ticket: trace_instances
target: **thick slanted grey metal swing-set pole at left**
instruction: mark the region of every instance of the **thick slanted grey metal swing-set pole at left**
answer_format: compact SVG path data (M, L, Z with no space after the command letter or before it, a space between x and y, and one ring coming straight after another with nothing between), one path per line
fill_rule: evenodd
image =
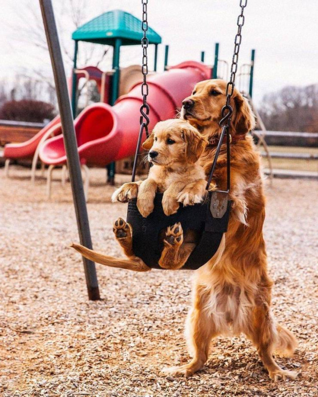
M92 249L88 214L84 197L83 182L80 173L79 152L77 149L76 136L74 131L71 103L67 88L66 75L63 66L59 37L56 29L54 12L51 0L39 0L42 12L42 18L45 28L46 39L48 42L51 63L53 68L55 86L57 91L59 110L61 114L62 131L68 168L70 173L70 182L72 186L73 201L75 206L76 219L79 230L80 244ZM95 264L83 258L88 298L98 300L99 289Z

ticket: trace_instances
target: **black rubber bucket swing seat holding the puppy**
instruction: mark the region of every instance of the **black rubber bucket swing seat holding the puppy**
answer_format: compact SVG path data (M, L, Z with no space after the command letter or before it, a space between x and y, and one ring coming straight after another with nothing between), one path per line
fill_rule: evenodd
M162 193L155 197L154 211L144 218L137 208L137 199L128 203L127 222L133 228L133 250L151 268L161 269L158 262L162 245L159 233L168 226L180 222L183 233L188 229L199 231L199 242L182 269L198 269L217 252L223 233L227 231L231 201L228 192L209 192L202 204L180 207L177 213L167 216L162 208Z

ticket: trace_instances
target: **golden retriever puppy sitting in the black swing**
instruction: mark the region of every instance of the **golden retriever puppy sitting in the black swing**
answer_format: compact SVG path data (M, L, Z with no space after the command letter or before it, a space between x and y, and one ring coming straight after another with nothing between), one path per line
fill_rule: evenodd
M114 192L112 200L126 202L137 198L137 207L143 217L147 217L154 210L157 192L163 193L162 208L167 216L177 212L180 202L183 205L202 202L207 191L205 173L198 160L207 143L207 139L184 120L159 122L143 144L143 148L149 150L148 161L152 164L148 178L145 181L124 184ZM192 193L195 192L191 201L188 195L181 193L185 187ZM133 252L131 225L118 218L113 224L113 231L128 260L105 256L77 244L72 247L85 258L103 265L136 271L151 270ZM180 222L163 230L159 237L163 246L159 265L166 269L182 267L195 248L196 237L191 230L187 230L183 236Z

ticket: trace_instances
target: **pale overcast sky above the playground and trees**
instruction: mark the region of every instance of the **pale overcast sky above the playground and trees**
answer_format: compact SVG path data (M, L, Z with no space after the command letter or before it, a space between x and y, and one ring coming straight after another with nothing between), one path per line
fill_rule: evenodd
M68 1L53 0L56 19L63 20L60 4ZM30 47L19 32L25 23L32 25L26 13L24 20L27 3L30 1L0 0L0 79L9 80L23 68L49 67L48 57ZM38 7L36 0L31 3ZM111 8L141 16L140 0L87 0L87 4L86 20ZM231 61L239 0L149 0L148 8L149 24L163 42L159 70L164 44L170 46L170 65L189 59L199 61L201 51L206 52L206 62L211 64L216 42L220 43L220 58ZM63 35L71 43L73 28L67 25L64 22ZM257 103L265 93L286 85L318 83L317 0L248 0L242 35L239 64L249 62L251 49L256 50L253 94ZM140 63L140 59L140 48L130 48L123 53L122 66Z

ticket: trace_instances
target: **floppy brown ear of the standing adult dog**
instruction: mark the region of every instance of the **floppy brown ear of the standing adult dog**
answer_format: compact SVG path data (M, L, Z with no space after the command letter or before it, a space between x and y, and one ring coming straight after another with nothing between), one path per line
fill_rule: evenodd
M231 135L245 134L255 128L255 116L245 99L238 91L234 97L234 114L232 117Z

